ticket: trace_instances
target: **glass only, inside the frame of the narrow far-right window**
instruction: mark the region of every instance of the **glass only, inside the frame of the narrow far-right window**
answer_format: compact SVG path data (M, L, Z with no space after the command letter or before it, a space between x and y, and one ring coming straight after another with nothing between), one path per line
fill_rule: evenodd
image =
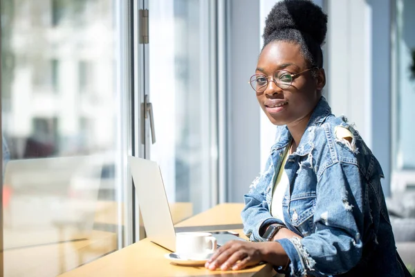
M415 170L415 1L396 1L396 170ZM413 184L415 186L415 184Z

